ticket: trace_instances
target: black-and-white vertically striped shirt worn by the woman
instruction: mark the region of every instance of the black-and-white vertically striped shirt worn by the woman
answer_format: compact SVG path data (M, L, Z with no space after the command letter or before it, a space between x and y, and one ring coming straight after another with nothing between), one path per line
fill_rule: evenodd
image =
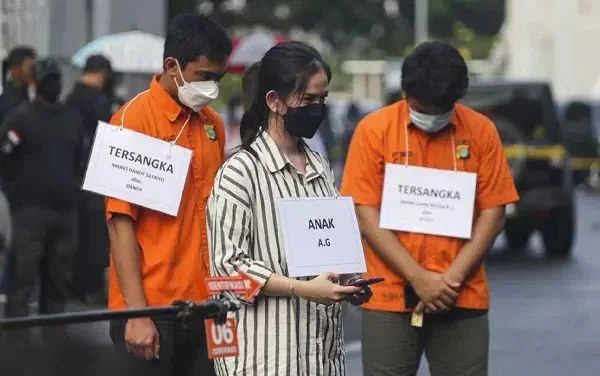
M252 144L258 158L240 151L217 173L208 201L213 275L240 268L264 285L288 274L277 200L337 195L327 160L307 146L306 173L298 174L273 139ZM219 376L344 375L342 305L319 305L259 295L236 313L239 356L215 362Z

